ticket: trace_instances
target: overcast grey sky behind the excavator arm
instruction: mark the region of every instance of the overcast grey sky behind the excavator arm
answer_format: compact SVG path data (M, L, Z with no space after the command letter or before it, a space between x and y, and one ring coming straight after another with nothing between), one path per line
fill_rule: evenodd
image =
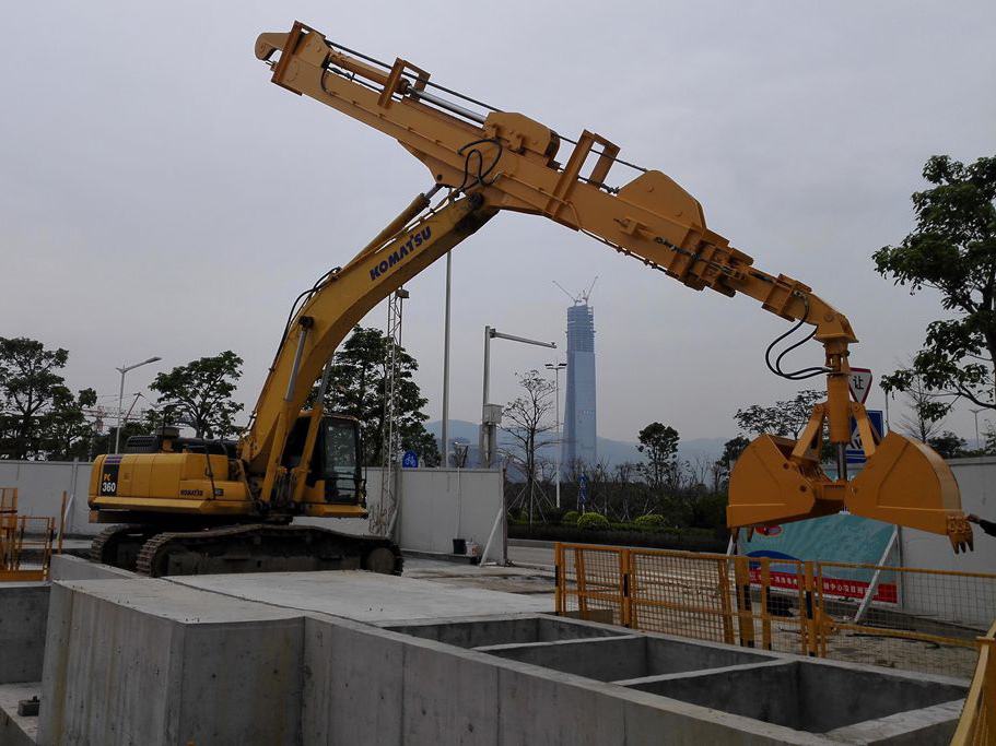
M112 405L122 363L164 358L129 375L138 391L232 348L249 408L291 299L431 182L397 143L269 82L256 36L295 19L569 137L608 137L694 194L758 267L844 311L862 340L852 363L876 371L939 311L879 277L871 252L912 227L929 155L996 152L992 0L34 2L2 17L0 334L67 347L70 384ZM433 418L443 270L410 284L405 319ZM600 435L633 440L659 419L731 437L737 407L799 388L764 367L786 325L754 301L504 214L454 254L452 416L480 416L484 324L563 347L552 281L595 275ZM492 399L548 352L496 343ZM819 346L795 360L820 363ZM948 425L973 435L964 407Z

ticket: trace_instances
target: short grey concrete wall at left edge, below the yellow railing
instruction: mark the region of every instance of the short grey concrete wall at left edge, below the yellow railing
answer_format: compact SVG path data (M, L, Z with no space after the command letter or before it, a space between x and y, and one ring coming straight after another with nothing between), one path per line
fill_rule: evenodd
M38 682L48 583L0 583L0 684Z

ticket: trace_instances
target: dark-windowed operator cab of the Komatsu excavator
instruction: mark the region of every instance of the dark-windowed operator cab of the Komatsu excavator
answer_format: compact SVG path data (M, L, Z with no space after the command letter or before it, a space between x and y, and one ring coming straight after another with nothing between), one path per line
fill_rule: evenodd
M301 462L309 424L310 414L302 414L288 437L282 459L288 470ZM342 414L324 415L305 478L307 492L313 496L317 493L326 502L362 505L365 501L362 462L360 422Z

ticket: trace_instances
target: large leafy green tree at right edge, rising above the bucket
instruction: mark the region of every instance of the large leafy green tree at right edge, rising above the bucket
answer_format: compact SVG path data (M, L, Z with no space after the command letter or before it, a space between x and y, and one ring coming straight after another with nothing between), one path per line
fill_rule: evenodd
M886 376L883 388L907 391L919 377L947 396L934 402L934 419L959 399L996 410L996 157L965 166L935 155L923 175L934 186L912 197L915 229L872 259L879 274L911 294L937 291L954 318L928 324L912 365Z

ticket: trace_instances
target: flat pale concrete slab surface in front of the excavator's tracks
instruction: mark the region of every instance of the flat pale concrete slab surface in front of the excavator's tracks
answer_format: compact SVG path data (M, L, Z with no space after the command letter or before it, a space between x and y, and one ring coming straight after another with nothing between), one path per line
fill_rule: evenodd
M456 588L362 570L191 576L166 581L285 609L366 623L553 611L549 597Z

